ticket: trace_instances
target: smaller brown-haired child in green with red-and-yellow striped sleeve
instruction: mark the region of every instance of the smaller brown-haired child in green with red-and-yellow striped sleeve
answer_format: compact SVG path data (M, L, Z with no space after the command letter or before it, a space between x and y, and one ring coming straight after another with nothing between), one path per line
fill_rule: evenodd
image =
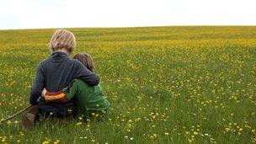
M88 54L78 53L74 59L81 61L88 70L93 72L93 58ZM97 120L105 119L109 115L109 101L105 99L103 89L98 84L90 87L80 79L75 79L67 88L63 88L56 93L47 92L46 89L42 92L46 102L67 103L69 100L74 100L77 104L77 109L80 114L86 119L97 118ZM99 119L98 119L99 118Z

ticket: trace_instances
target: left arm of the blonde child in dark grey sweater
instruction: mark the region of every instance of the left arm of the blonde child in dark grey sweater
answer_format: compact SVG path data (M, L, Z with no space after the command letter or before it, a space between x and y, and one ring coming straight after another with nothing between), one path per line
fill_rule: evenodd
M37 68L37 72L35 74L35 81L30 91L30 104L36 104L36 100L39 99L40 93L44 88L44 72L43 67L40 63L39 67Z

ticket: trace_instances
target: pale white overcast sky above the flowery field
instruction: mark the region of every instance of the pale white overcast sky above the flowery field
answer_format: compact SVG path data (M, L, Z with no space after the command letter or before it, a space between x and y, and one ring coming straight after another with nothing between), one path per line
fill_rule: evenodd
M1 0L0 29L256 25L253 0Z

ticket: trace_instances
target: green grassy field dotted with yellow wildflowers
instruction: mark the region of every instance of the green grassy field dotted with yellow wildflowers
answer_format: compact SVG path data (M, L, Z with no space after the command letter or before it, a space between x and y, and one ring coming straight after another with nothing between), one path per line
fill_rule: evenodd
M3 143L255 143L256 27L69 29L111 103L104 122L21 116ZM0 31L0 119L29 104L54 29Z

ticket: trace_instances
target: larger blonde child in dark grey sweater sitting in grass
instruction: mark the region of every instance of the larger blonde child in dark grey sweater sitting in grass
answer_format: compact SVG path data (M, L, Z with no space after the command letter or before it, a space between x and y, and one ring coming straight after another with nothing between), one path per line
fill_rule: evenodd
M30 128L35 125L36 117L45 118L50 115L58 118L65 118L76 115L76 107L71 100L66 104L45 103L45 99L40 98L43 88L49 91L59 91L67 87L73 79L79 78L89 86L99 83L99 77L84 67L80 61L69 58L76 47L76 39L72 32L66 29L57 29L52 35L50 44L51 56L41 61L32 85L29 103L34 105L24 115L22 125Z

